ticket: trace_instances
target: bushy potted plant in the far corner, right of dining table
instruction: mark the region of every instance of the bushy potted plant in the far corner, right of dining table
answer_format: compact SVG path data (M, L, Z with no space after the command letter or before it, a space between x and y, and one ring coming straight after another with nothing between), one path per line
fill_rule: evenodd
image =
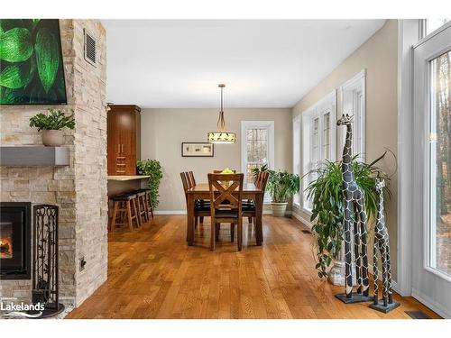
M272 215L284 216L290 197L299 192L299 175L288 171L268 170L267 189L272 196Z

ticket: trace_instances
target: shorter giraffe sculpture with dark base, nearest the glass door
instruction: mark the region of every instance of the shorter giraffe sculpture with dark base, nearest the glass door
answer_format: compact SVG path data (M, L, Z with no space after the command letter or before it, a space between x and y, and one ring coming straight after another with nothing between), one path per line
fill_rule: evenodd
M392 309L400 306L400 303L393 303L393 291L391 289L391 261L390 261L390 245L389 233L385 226L385 215L383 207L383 187L385 187L385 180L383 178L376 178L376 191L379 195L377 204L377 219L376 227L374 229L374 251L373 251L373 273L374 273L374 300L370 305L375 310L388 313ZM378 285L378 253L381 254L382 262L382 303L379 300L379 285Z

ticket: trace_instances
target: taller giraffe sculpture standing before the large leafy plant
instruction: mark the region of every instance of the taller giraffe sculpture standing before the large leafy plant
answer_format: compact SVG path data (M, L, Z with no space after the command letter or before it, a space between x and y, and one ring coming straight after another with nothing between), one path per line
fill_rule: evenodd
M373 300L369 296L368 254L366 249L366 212L364 208L364 194L357 186L352 167L353 160L353 117L343 114L336 125L346 126L345 148L342 160L342 193L344 197L344 235L345 235L345 294L336 297L345 303L358 303ZM357 292L353 295L352 273L352 240L351 223L354 213L354 256Z

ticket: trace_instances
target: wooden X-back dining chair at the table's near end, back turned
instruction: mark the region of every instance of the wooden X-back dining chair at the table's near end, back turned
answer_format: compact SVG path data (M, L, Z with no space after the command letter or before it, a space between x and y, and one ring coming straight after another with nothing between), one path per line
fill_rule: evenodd
M231 227L237 225L238 251L243 248L243 182L244 174L208 174L211 251L215 251L216 230L219 230L216 226L221 223L230 223Z

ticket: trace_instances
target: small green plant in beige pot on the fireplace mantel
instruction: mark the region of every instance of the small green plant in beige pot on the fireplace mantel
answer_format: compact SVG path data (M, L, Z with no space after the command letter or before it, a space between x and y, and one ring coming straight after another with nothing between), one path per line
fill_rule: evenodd
M74 129L74 114L67 115L59 109L47 109L47 114L39 113L32 116L30 126L42 131L42 144L58 147L64 144L63 128Z

